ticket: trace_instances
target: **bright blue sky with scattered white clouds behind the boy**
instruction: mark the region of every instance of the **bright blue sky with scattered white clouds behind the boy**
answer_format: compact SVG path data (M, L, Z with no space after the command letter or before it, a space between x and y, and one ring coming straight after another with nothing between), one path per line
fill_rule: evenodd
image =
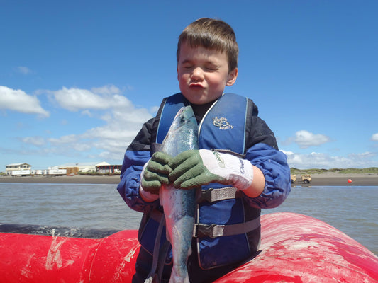
M179 91L177 37L235 30L239 76L296 168L378 166L378 1L0 1L0 171L120 163Z

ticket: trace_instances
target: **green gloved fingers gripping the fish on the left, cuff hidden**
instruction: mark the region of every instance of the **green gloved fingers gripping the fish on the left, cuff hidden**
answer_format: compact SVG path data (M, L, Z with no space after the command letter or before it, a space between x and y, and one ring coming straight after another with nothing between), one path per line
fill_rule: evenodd
M145 192L158 195L160 187L169 183L168 174L172 169L168 166L168 163L171 159L171 156L162 152L155 152L152 155L141 173L140 185Z

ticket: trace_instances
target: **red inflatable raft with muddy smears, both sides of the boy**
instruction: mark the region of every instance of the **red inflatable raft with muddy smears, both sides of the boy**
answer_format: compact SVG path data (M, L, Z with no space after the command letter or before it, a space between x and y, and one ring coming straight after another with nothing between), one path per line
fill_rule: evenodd
M101 239L0 233L0 282L131 282L137 231ZM378 282L378 258L309 216L262 216L260 253L216 282Z

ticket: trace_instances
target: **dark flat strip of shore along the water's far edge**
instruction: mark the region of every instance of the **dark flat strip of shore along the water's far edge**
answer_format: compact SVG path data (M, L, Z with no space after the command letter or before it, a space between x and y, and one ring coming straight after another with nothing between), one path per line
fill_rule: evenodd
M368 174L340 174L340 173L323 173L311 175L312 180L309 184L301 181L301 175L296 175L296 182L291 184L296 186L378 186L378 175ZM348 179L352 183L348 183ZM2 176L0 183L52 183L52 184L118 184L119 175L113 176Z

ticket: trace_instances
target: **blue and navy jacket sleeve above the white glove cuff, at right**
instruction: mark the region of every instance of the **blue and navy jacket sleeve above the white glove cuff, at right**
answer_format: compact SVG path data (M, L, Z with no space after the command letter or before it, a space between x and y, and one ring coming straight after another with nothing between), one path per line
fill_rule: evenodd
M278 150L276 138L265 122L257 116L251 119L253 127L248 136L245 158L260 168L265 176L265 187L259 197L245 196L245 200L255 208L278 207L291 190L287 156Z

